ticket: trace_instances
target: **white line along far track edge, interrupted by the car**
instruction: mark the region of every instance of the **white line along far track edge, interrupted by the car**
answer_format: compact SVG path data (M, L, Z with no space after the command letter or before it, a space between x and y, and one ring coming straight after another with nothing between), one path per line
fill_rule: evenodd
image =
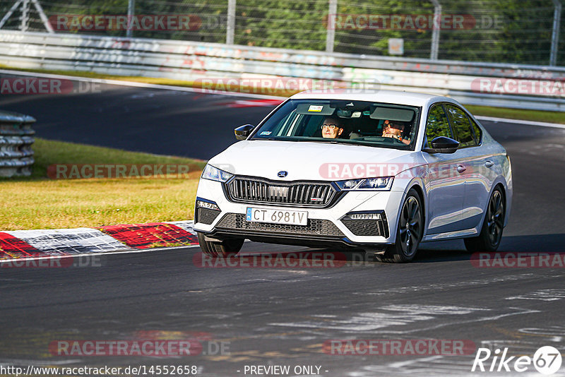
M287 97L280 97L276 95L258 95L251 93L239 93L239 92L226 92L223 90L201 90L197 88L188 88L183 86L173 86L173 85L160 85L160 84L148 84L148 83L136 83L135 81L126 80L108 80L105 78L88 78L81 76L66 76L66 75L55 75L53 73L35 73L35 72L25 72L25 71L12 71L9 69L0 69L0 73L6 73L8 75L20 75L20 76L35 76L35 77L45 77L45 78L57 78L61 80L76 80L76 81L88 81L95 83L104 83L109 85L122 85L131 86L135 88L150 88L150 89L164 89L164 90L177 90L179 92L198 92L203 94L215 94L215 95L229 95L233 97L248 97L248 98L263 98L267 100L285 100ZM516 123L525 124L528 126L541 126L541 127L553 127L553 128L564 128L565 124L559 123L548 123L543 121L523 121L521 119L508 119L508 118L496 118L493 116L475 116L475 118L484 121L501 121L504 123Z

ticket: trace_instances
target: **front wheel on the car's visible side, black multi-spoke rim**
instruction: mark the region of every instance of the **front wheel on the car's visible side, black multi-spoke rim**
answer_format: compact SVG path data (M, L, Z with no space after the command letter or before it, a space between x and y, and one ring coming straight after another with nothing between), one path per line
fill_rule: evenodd
M414 188L410 188L404 199L398 225L396 244L388 246L384 253L376 254L376 260L385 263L406 263L416 255L424 234L424 216L422 199Z

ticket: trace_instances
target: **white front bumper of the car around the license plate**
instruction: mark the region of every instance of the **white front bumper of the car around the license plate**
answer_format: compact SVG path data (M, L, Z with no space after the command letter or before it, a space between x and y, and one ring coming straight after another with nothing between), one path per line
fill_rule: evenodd
M201 179L196 196L218 205L220 211L196 208L197 232L208 239L245 238L251 241L304 246L363 246L392 244L395 241L396 217L403 200L401 191L350 191L343 193L331 208L299 208L264 205L265 208L300 209L308 212L308 225L276 225L245 220L246 208L261 208L254 203L229 201L218 181ZM381 220L343 220L352 212L381 213Z

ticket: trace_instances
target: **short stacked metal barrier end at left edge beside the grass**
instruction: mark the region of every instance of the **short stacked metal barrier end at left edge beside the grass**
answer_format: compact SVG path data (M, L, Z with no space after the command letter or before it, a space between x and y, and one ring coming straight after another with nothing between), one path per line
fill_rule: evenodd
M31 175L33 123L35 119L29 115L0 112L0 176Z

